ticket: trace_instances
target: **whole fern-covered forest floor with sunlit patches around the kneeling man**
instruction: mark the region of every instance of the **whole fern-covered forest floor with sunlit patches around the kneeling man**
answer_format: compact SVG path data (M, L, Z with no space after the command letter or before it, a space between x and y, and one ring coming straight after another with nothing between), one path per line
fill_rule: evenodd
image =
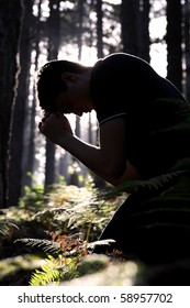
M190 285L190 262L146 266L119 253L92 252L127 197L99 198L92 187L26 188L16 207L0 210L0 286ZM185 275L186 274L186 275Z

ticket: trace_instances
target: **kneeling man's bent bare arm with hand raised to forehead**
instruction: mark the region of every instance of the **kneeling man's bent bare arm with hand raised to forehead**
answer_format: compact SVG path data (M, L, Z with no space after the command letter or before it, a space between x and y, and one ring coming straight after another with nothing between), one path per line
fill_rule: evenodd
M134 179L134 173L126 165L125 122L118 118L100 128L100 147L90 145L74 135L67 118L60 113L51 114L41 124L40 130L80 161L93 173L118 185ZM131 178L132 177L132 178Z

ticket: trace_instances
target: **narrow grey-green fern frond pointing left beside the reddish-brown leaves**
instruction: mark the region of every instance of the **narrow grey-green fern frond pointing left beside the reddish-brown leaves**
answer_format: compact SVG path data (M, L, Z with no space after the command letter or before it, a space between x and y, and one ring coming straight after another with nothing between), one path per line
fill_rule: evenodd
M42 240L42 239L18 239L15 242L22 242L27 246L37 246L42 248L44 252L48 253L58 253L60 252L60 246L57 242Z

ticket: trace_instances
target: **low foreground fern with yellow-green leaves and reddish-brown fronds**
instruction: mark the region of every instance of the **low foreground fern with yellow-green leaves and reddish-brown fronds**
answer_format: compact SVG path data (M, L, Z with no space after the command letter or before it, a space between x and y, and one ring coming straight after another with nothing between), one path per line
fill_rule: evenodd
M45 264L41 270L35 270L32 274L30 285L41 286L51 283L58 284L64 279L72 279L79 275L78 265L82 256L88 254L88 249L93 249L94 245L109 244L112 240L97 241L94 243L87 243L80 238L80 233L71 237L57 235L51 232L54 241L46 241L40 239L21 239L16 240L31 246L42 248L44 252L52 252L48 254Z

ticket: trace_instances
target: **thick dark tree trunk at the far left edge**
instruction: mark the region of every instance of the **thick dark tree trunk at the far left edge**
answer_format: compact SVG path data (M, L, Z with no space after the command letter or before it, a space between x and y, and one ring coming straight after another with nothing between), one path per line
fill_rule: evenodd
M0 1L0 206L7 206L9 141L16 97L23 2Z

